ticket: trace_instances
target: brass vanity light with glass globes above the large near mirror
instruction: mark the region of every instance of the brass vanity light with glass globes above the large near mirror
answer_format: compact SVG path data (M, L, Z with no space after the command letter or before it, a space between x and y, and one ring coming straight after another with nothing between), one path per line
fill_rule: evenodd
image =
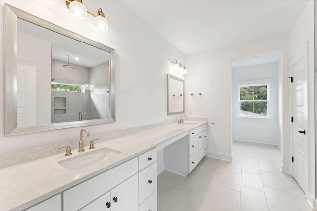
M58 0L42 0L43 2L54 5L58 3ZM82 0L65 0L66 6L69 9L69 14L77 20L86 20L87 14L95 17L94 27L101 32L108 30L108 21L105 18L105 13L101 8L98 9L97 15L87 11L86 6Z

